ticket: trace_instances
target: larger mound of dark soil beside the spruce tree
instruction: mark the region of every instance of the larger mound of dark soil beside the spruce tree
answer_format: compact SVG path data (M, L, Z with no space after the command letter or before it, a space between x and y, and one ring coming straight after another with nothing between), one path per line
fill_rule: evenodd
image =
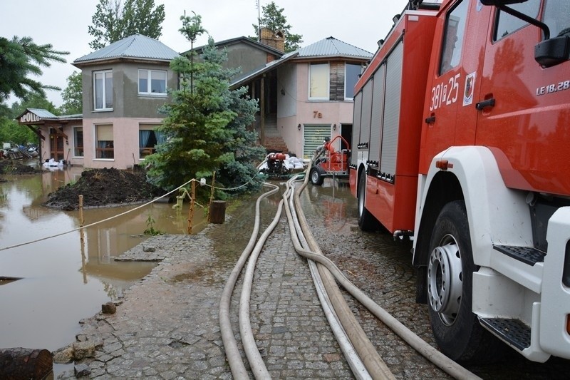
M162 190L147 182L144 172L94 169L81 173L76 183L51 192L46 206L77 210L79 195L83 195L83 207L103 207L145 202L162 194Z

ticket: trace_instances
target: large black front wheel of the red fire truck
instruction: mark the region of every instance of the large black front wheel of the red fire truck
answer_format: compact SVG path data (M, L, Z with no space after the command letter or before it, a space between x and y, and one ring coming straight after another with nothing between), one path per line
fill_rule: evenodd
M464 201L450 202L437 217L427 265L427 307L437 346L463 364L497 361L504 344L472 313L473 263Z

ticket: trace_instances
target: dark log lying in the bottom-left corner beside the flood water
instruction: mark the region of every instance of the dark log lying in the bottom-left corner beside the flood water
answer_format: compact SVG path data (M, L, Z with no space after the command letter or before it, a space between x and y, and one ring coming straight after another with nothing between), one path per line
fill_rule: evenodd
M53 371L51 352L46 349L0 349L0 379L44 379Z

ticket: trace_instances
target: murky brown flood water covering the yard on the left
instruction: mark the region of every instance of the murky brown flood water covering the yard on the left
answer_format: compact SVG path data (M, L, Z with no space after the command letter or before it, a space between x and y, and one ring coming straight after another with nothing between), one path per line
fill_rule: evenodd
M29 163L33 165L33 163ZM155 264L115 262L147 239L152 227L169 234L187 233L188 206L154 202L108 222L41 240L80 227L79 211L42 206L49 192L81 177L82 168L36 175L3 175L0 183L0 348L53 351L73 342L80 319L100 311L150 272ZM83 225L105 220L140 205L83 210ZM205 227L196 207L193 232ZM41 240L33 242L35 240ZM23 243L31 242L22 245ZM14 245L19 247L9 248Z

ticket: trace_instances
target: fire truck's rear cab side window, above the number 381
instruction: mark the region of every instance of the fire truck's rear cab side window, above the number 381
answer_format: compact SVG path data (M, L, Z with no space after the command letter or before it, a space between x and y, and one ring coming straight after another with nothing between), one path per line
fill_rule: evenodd
M469 1L461 1L447 14L440 62L440 75L455 68L460 62L468 5Z

